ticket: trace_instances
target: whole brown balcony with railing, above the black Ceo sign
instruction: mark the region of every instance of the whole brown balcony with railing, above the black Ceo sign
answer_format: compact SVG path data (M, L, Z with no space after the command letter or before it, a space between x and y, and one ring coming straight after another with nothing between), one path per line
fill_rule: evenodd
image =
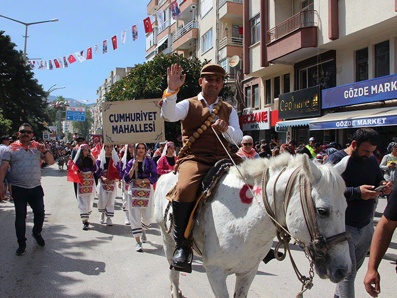
M268 30L267 61L276 63L279 58L298 50L316 48L318 20L316 10L306 10ZM299 54L302 53L299 52ZM287 62L288 58L285 61Z

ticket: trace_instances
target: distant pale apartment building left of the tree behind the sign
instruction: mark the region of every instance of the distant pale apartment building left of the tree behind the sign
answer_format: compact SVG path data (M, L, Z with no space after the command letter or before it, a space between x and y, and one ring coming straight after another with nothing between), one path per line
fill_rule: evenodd
M91 126L90 134L92 135L102 135L103 134L103 126L102 126L102 103L105 101L104 95L109 90L109 87L117 82L118 80L124 78L130 71L131 67L127 68L115 68L113 71L109 73L109 76L105 78L102 82L102 85L96 90L96 95L98 96L95 104L92 106L92 117L94 119L94 123Z

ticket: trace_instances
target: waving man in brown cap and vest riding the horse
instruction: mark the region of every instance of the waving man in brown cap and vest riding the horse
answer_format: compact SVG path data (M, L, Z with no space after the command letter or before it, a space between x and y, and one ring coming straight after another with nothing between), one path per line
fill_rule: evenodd
M172 200L176 242L171 269L189 272L193 251L184 233L195 205L199 184L217 161L229 158L223 146L229 150L228 142L239 144L243 132L236 110L218 97L226 74L220 65L204 65L199 78L201 92L178 103L176 93L184 84L186 74L182 75L182 67L177 64L168 68L167 74L168 89L164 94L161 117L169 122L181 121L182 141L185 145L178 156L179 176L176 188L167 195ZM211 127L216 130L223 146ZM237 154L231 156L235 162L242 162Z

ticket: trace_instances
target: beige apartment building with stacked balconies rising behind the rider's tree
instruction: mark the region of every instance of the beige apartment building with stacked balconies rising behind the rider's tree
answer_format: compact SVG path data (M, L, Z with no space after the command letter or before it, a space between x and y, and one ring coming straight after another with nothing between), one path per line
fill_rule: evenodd
M146 61L156 54L178 53L220 64L228 74L226 83L236 91L236 70L243 54L243 0L178 0L181 16L173 19L171 0L151 0L147 14L154 17L153 31L146 34ZM161 13L160 26L156 13ZM238 60L236 60L236 57ZM230 59L234 60L231 66ZM237 106L236 98L230 103Z

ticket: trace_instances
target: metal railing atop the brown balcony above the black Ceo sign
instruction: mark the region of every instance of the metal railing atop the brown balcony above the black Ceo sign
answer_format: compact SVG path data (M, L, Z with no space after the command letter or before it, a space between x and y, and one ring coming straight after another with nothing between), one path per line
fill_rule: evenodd
M284 36L297 28L318 26L319 15L316 10L305 10L298 12L289 19L278 24L274 28L267 31L267 43Z

